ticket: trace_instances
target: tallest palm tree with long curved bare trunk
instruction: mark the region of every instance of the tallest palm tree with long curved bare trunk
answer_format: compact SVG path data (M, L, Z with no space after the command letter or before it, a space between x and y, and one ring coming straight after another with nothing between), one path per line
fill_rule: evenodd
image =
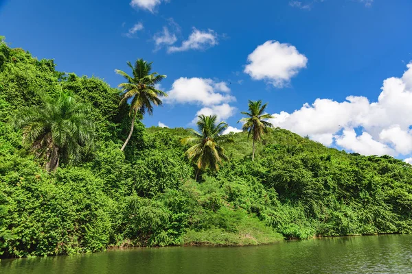
M130 66L130 69L132 69L132 76L128 75L124 71L119 71L118 69L115 70L117 74L122 75L127 80L126 83L119 84L119 88L121 88L124 92L120 103L125 103L131 99L129 115L133 117L130 133L126 139L126 142L124 142L122 151L124 151L124 148L133 134L137 112L144 115L147 111L148 114L152 115L153 105L162 104L159 97L168 96L165 92L155 88L155 84L159 84L161 80L166 77L166 75L150 73L150 71L152 71L152 63L139 59L135 62L135 66L133 66L130 62L127 62L127 64Z

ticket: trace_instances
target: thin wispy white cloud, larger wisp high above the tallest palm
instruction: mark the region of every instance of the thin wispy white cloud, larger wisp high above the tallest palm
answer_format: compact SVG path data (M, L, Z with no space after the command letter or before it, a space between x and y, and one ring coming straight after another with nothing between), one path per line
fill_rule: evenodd
M190 34L187 40L182 42L180 47L169 47L168 52L188 51L190 49L203 50L209 47L218 45L218 34L212 29L208 29L207 32L193 28L192 34Z

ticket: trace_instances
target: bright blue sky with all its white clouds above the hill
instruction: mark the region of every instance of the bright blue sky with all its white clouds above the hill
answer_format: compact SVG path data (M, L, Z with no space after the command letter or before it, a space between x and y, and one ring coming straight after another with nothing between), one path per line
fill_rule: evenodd
M152 61L170 97L147 126L190 127L213 112L240 128L247 100L262 99L277 126L403 159L412 153L411 11L410 0L0 0L0 35L111 86L126 61Z

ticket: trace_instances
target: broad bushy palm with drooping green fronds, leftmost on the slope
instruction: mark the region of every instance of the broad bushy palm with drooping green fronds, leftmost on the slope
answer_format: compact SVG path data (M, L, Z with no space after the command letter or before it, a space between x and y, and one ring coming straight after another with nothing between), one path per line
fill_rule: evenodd
M55 171L60 160L78 162L85 147L93 145L93 124L89 108L73 97L41 95L44 105L25 107L14 118L14 126L23 129L23 144L31 145L45 169Z

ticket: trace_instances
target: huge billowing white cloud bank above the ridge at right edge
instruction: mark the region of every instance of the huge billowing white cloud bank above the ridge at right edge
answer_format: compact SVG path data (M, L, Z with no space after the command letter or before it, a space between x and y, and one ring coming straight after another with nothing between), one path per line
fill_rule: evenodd
M295 112L273 114L271 123L365 155L412 153L412 63L402 77L385 79L378 101L349 96L346 101L316 99ZM356 134L357 129L360 133Z

